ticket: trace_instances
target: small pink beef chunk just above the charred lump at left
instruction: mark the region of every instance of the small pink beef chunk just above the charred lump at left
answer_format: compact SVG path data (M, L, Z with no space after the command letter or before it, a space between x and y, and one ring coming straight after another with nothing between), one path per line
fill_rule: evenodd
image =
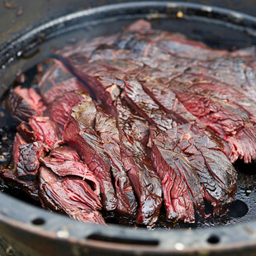
M61 144L59 128L55 121L51 121L47 116L31 116L28 122L36 141L43 142L50 149L54 149Z

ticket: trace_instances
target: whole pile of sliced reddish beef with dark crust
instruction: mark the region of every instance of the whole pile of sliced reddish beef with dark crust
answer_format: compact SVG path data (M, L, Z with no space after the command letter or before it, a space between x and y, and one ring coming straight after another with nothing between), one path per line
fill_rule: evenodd
M17 86L13 169L42 206L104 224L116 211L154 226L193 223L234 200L232 163L256 159L253 49L212 50L147 21L58 50L40 92Z

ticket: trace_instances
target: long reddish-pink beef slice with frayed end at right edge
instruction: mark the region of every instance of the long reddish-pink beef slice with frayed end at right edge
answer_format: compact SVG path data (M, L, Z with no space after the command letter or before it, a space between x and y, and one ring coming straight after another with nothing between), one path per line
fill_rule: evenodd
M230 108L208 97L202 97L191 92L182 92L173 89L178 100L188 111L205 125L209 126L231 146L229 159L232 163L236 159L244 159L245 163L256 159L256 138L244 120Z

